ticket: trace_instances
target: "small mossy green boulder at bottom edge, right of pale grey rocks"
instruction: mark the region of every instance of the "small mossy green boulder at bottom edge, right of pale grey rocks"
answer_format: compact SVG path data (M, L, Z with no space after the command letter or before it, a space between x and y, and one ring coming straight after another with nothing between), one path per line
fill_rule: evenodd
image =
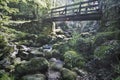
M63 68L61 70L62 80L76 80L77 74L69 69Z

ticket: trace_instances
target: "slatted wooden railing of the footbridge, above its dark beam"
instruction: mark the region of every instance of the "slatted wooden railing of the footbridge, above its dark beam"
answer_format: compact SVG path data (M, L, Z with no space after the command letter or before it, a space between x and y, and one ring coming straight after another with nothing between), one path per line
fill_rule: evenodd
M93 14L100 12L99 0L89 0L51 9L49 17Z

